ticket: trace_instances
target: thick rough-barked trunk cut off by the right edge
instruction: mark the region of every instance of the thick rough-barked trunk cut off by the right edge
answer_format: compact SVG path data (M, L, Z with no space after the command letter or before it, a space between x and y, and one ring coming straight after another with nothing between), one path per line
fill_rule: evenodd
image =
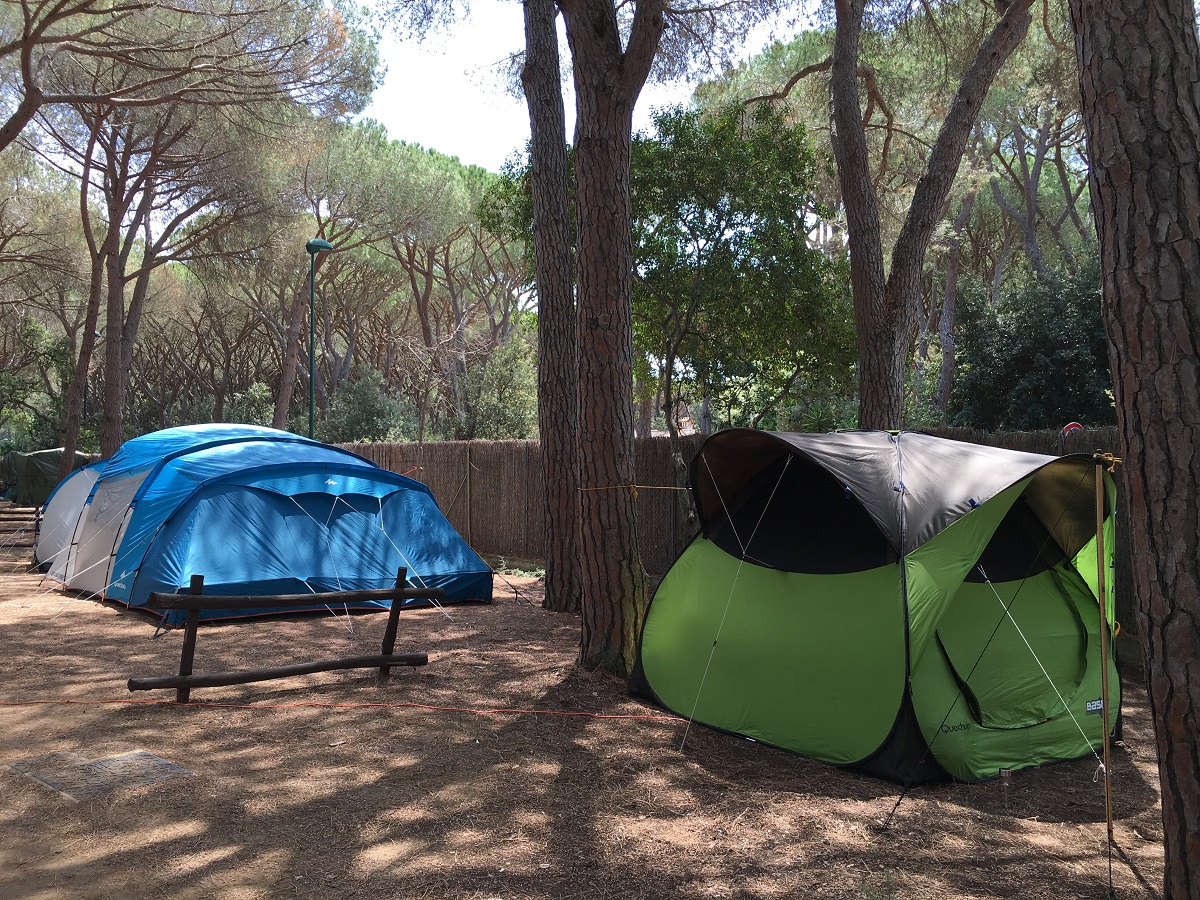
M1192 4L1070 0L1163 790L1166 900L1200 898L1200 44Z

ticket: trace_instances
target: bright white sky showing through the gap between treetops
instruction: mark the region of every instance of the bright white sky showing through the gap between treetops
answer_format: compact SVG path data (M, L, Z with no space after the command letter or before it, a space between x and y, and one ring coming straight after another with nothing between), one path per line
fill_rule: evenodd
M529 139L524 97L506 92L503 73L504 61L523 48L516 0L472 0L468 19L422 43L388 32L379 44L388 73L364 115L383 122L394 139L499 172ZM648 84L635 109L635 131L649 127L654 108L690 96L689 85ZM572 104L568 98L568 138L575 128Z

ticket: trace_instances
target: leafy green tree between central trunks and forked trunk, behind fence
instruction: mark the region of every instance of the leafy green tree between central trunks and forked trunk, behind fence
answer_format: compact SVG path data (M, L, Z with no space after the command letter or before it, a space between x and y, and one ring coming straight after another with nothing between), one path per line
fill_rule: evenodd
M634 142L634 341L665 404L708 397L725 424L761 425L845 394L853 317L842 260L808 240L824 210L804 128L764 104L655 127Z

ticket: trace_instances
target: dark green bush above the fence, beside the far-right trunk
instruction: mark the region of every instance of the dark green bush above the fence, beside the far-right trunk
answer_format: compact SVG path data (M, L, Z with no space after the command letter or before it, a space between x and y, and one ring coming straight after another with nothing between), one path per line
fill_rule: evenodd
M1115 422L1096 260L1051 281L1027 276L996 305L986 286L961 286L958 334L954 425L1032 431Z

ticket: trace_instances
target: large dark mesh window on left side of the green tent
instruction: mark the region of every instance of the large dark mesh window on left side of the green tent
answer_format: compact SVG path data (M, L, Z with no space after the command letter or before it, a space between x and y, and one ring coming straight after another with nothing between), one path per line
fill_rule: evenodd
M804 456L793 456L785 472L786 462L780 456L725 498L728 515L722 506L704 523L709 540L734 557L749 542L746 562L788 572L834 575L895 562L852 491Z

